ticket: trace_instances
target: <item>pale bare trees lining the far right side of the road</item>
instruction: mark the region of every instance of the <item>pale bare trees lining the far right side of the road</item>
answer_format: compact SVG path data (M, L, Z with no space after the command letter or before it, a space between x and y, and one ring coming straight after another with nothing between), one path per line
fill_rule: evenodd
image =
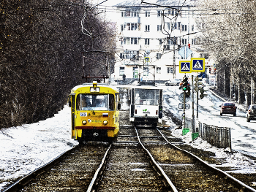
M244 103L250 98L255 82L254 1L198 1L198 20L203 22L203 49L218 61L220 91ZM230 91L231 89L231 91ZM238 92L238 93L237 93ZM255 96L255 91L254 93Z

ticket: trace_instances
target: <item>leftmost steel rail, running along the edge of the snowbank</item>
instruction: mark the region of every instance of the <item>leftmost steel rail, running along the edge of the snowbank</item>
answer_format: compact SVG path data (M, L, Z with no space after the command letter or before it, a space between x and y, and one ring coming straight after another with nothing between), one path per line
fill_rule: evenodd
M67 150L64 153L61 153L61 155L57 156L56 158L53 158L53 160L49 161L47 164L44 164L43 166L40 166L39 168L35 169L33 172L26 174L24 177L22 177L20 180L17 180L15 183L10 185L2 192L13 192L20 190L21 188L23 188L24 185L33 180L34 177L36 177L38 174L41 174L42 172L45 172L45 170L50 169L54 164L60 162L61 159L64 158L68 153L72 153L72 151L75 150L77 147L78 145L72 147L70 150Z

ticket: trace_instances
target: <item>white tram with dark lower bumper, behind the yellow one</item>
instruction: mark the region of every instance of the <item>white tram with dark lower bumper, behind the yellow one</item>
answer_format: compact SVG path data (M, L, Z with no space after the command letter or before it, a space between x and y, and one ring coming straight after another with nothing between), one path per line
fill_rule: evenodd
M162 123L162 89L156 86L136 86L129 93L129 120L135 126L157 126Z

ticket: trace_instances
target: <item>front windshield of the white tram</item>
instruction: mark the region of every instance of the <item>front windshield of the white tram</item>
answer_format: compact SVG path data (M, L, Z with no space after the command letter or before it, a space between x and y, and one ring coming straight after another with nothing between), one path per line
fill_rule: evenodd
M135 89L135 104L159 105L159 89Z

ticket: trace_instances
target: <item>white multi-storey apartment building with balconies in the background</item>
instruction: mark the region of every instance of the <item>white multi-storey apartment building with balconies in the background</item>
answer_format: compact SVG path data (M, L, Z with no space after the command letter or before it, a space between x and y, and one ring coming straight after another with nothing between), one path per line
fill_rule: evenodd
M124 1L115 6L117 45L113 78L123 80L125 74L127 80L182 79L179 61L204 56L197 45L200 23L195 23L195 1L140 2ZM178 51L189 45L192 54L182 58Z

